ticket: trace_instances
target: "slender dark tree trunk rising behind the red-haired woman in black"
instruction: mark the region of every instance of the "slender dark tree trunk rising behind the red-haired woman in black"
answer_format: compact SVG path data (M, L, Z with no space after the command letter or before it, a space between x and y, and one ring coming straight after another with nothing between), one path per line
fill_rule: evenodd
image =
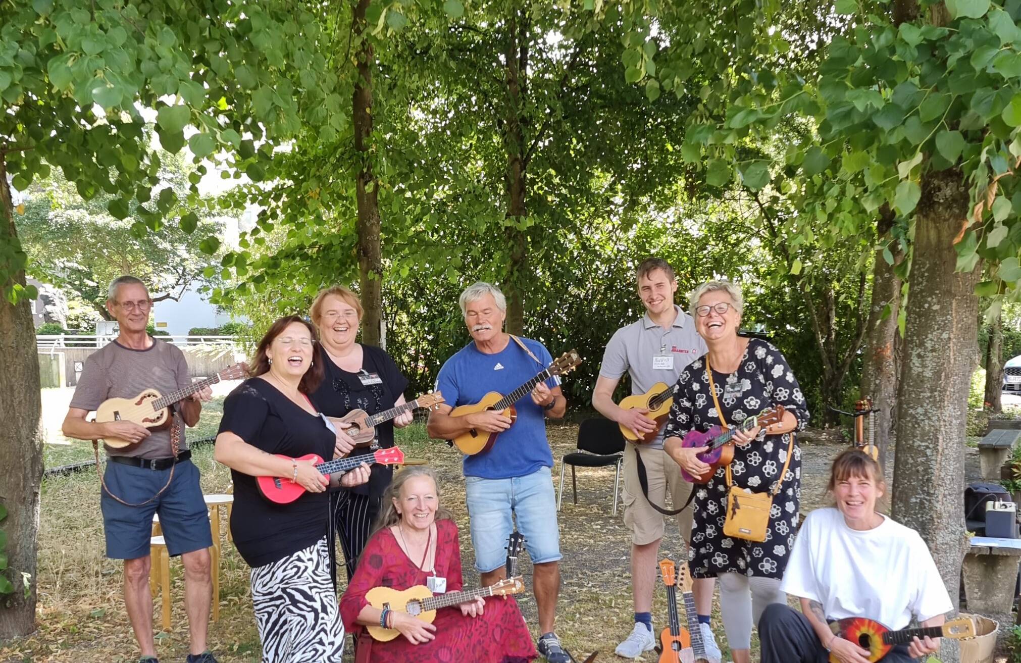
M352 115L354 149L361 160L355 181L358 204L358 285L361 290L361 342L380 344L380 321L383 311L383 256L380 249L379 182L373 174L370 135L373 131L373 46L366 35L366 9L370 0L358 0L354 7L353 29L360 42L355 58L358 75L354 81Z

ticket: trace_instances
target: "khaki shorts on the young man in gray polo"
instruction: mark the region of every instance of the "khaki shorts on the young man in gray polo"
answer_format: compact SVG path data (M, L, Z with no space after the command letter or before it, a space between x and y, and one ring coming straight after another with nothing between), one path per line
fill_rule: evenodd
M681 478L681 467L662 448L636 446L630 442L624 448L624 524L631 530L631 542L644 546L663 538L663 514L649 506L638 482L635 449L641 454L648 477L648 498L664 509L677 509L688 501L691 486ZM673 505L667 505L667 490ZM691 506L674 516L685 543L691 540Z

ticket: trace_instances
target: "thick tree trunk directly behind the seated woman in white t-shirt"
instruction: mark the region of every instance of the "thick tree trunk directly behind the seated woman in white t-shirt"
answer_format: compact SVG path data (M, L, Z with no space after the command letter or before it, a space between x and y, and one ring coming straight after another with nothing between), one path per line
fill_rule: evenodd
M923 177L893 465L893 518L925 539L955 608L967 540L961 495L980 274L978 267L955 272L954 238L967 212L968 187L960 171ZM949 663L958 656L956 643L944 638L940 659Z

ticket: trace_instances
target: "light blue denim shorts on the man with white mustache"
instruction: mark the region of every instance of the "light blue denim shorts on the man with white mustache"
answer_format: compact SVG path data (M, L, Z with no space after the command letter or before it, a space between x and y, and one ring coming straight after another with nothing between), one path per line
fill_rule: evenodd
M525 536L533 564L561 559L561 532L556 526L556 499L548 467L510 479L465 477L468 514L472 524L475 568L495 571L506 562L506 544L514 531Z

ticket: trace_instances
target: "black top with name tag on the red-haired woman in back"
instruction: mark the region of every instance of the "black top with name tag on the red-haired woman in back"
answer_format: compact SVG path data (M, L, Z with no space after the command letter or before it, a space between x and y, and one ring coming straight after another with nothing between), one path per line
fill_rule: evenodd
M351 373L338 367L330 356L322 352L325 376L319 388L311 393L312 402L328 417L343 417L352 410L364 410L370 415L389 410L407 388L407 378L401 374L393 359L374 345L361 346L361 369ZM393 421L376 427L376 437L383 448L393 446ZM367 454L369 449L355 449L352 456ZM359 494L382 494L390 483L392 469L373 465L368 483L349 488Z

